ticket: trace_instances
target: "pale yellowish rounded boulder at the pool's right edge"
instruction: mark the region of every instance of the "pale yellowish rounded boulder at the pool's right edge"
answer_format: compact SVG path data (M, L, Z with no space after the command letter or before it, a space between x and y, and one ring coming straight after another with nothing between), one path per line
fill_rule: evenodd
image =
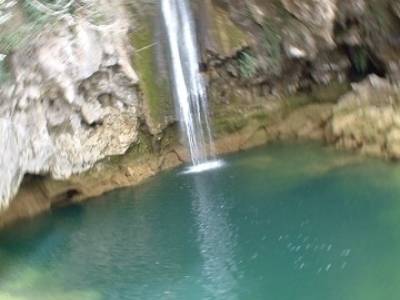
M400 159L400 89L370 76L354 84L334 107L326 129L330 143L340 148Z

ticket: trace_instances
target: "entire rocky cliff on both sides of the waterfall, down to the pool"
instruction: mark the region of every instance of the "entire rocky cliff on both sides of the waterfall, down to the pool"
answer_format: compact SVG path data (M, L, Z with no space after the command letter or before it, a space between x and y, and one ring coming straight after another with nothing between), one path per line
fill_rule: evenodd
M217 152L318 139L399 159L398 2L191 1ZM186 159L160 0L93 3L115 22L67 14L15 51L0 43L0 72L3 59L12 70L0 87L0 210L23 181L0 227Z

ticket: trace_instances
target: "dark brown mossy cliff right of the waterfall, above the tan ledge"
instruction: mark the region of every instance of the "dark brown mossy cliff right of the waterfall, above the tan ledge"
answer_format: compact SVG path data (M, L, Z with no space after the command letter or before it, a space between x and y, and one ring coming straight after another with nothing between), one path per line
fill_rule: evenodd
M232 86L268 97L370 74L400 78L397 1L194 2L211 89L221 95Z

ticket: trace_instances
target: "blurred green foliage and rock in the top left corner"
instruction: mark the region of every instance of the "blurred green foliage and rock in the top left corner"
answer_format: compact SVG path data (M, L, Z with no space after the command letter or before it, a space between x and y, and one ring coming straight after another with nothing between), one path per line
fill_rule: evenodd
M60 23L84 20L95 30L116 28L113 25L118 21L117 3L110 0L0 0L0 84L10 78L10 54L29 48L40 37L55 32L54 28Z

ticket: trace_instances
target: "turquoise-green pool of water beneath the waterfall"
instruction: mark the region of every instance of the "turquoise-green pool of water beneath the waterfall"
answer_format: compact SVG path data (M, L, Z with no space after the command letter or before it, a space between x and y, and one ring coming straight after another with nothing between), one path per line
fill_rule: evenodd
M0 233L0 299L400 299L400 168L273 145Z

